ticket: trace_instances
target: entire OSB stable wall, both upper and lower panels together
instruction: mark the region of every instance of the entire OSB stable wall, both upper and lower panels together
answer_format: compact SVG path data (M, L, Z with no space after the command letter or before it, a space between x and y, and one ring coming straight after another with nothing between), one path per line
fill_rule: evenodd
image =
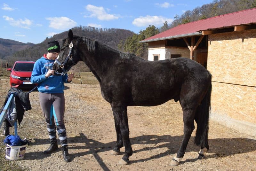
M256 29L210 35L207 69L212 112L256 124Z

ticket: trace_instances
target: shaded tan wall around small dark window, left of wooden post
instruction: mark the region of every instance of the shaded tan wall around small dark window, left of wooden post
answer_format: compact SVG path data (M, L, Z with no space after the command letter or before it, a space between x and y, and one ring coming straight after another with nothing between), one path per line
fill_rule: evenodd
M190 58L188 47L166 46L165 58L170 59L171 54L181 54L181 57Z

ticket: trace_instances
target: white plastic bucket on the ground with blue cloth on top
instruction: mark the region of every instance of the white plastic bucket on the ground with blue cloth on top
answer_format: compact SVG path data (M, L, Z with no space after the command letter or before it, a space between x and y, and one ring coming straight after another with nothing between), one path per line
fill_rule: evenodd
M28 144L20 146L11 146L6 144L5 147L5 157L10 160L23 159L26 153L26 147Z

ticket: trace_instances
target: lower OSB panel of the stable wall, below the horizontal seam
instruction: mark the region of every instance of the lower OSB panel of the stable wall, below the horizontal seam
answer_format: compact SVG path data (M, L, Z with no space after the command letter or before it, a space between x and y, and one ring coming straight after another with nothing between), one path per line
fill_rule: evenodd
M212 113L256 124L256 88L212 82Z

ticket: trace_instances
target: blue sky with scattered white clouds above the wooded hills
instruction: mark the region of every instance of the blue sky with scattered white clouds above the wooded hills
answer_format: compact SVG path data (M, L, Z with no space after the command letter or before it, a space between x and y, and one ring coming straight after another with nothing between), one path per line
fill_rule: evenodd
M75 26L122 28L139 33L170 24L176 14L212 0L0 0L0 38L41 43Z

